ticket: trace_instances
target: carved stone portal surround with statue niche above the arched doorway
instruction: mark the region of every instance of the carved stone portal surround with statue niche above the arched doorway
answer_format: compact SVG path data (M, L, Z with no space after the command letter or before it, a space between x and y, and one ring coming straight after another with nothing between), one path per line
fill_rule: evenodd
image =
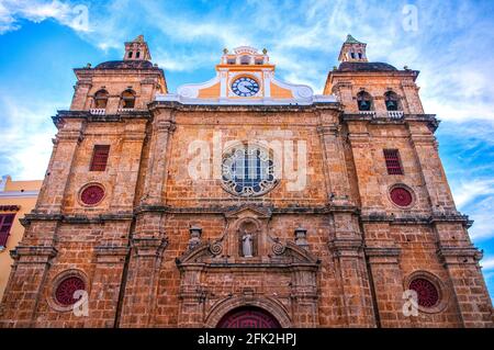
M216 327L227 313L244 306L268 311L282 327L317 326L319 261L304 245L271 237L269 217L269 212L251 207L228 213L222 237L177 259L179 327Z

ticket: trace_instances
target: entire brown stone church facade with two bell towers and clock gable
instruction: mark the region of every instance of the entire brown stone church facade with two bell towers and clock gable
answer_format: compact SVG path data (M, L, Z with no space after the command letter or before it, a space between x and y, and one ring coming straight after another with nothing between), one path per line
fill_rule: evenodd
M267 50L167 89L142 36L75 69L1 327L492 327L418 71L350 35L323 94Z

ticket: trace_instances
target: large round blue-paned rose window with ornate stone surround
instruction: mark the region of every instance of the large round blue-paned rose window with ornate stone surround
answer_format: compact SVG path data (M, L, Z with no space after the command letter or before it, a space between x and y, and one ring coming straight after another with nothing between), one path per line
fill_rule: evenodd
M277 184L273 159L269 150L242 145L225 153L222 165L224 188L236 195L256 196Z

